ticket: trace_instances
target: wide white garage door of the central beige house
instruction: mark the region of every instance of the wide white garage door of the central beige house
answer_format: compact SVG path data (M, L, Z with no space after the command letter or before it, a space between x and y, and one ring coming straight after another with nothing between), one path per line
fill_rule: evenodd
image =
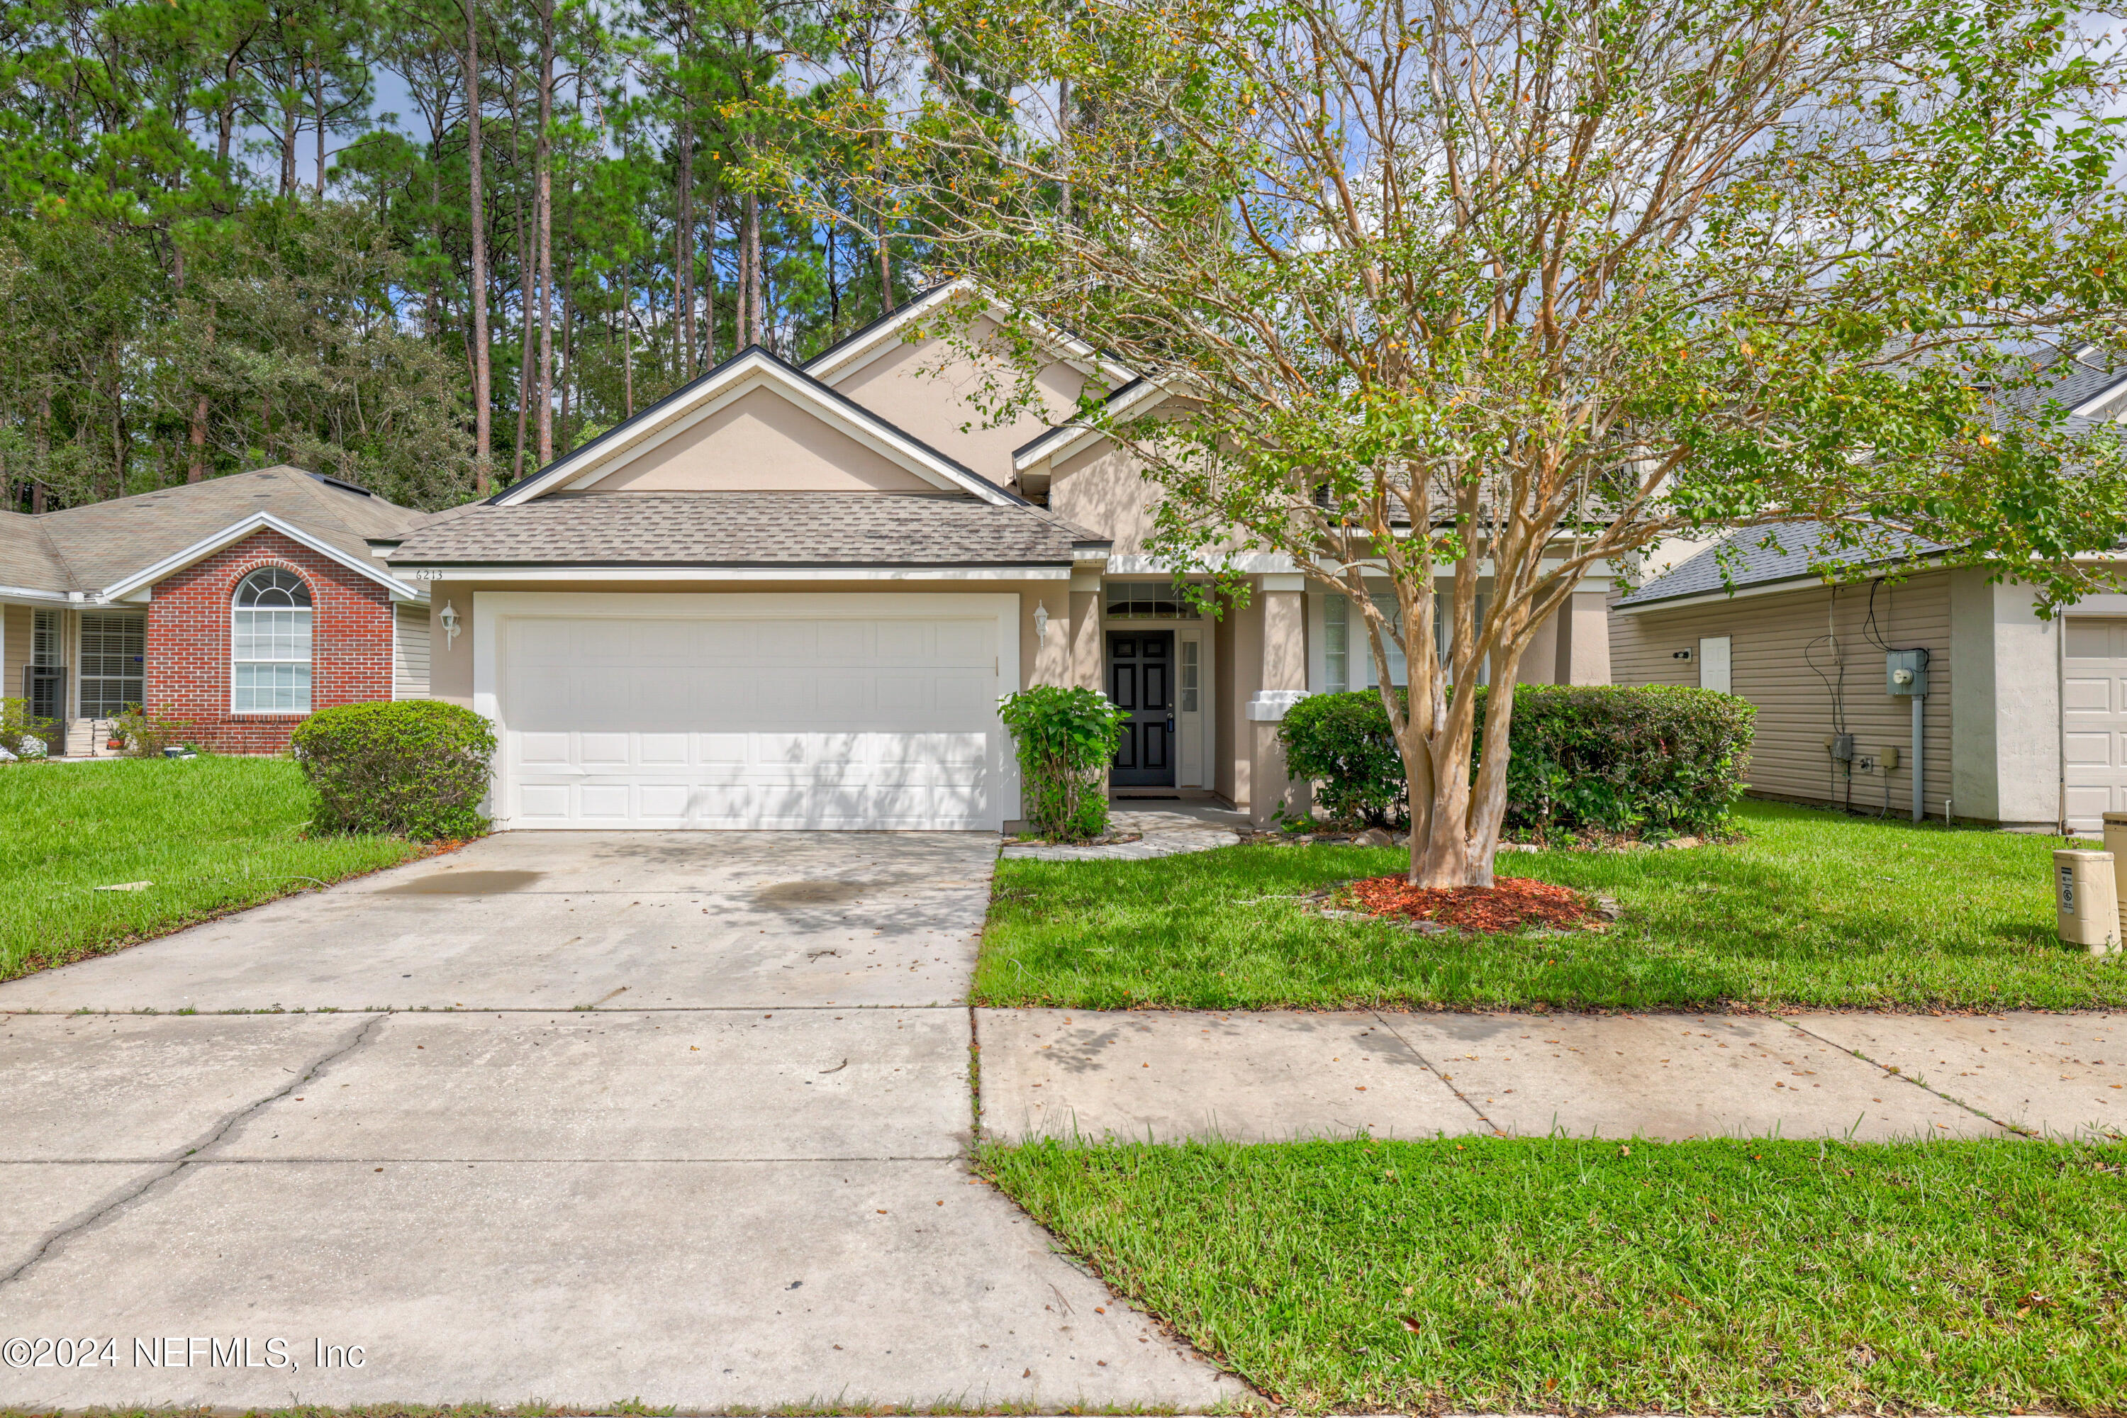
M995 612L500 629L510 827L1002 825Z

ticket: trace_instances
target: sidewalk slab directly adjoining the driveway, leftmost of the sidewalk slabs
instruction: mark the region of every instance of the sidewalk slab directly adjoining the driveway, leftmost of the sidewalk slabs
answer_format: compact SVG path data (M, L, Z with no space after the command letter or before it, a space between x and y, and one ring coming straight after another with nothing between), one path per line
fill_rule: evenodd
M1019 1137L1429 1137L1476 1116L1372 1014L976 1010L983 1131Z

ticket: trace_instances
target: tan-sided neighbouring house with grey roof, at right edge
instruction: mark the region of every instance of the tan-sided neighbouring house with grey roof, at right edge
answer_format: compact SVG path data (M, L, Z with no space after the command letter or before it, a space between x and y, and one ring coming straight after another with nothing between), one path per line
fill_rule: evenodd
M1755 704L1753 795L1912 816L1919 782L1931 818L2031 831L2097 831L2127 810L2127 595L2040 619L2029 587L1946 568L1925 542L1827 585L1821 536L1738 531L1621 595L1617 682ZM1921 674L1899 682L1899 668Z

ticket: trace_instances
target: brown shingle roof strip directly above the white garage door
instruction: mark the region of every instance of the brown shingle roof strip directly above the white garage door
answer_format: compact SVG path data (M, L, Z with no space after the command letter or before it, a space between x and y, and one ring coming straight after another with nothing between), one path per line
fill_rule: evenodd
M585 493L440 512L391 565L1068 565L1108 540L964 493Z

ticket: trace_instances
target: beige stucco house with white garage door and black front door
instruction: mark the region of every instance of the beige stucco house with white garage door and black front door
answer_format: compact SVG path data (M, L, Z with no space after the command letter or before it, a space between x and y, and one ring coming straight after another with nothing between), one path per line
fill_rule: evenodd
M372 546L430 589L434 693L502 740L504 827L968 827L1019 818L998 697L1104 689L1112 784L1287 799L1276 721L1372 682L1342 597L1240 555L1200 617L1144 551L1157 487L1072 425L1159 391L1057 336L1044 410L995 427L995 368L923 334L927 291L804 368L747 349L485 504ZM1002 374L1010 378L1010 374ZM1387 585L1383 587L1387 591ZM1606 682L1608 583L1529 653Z

